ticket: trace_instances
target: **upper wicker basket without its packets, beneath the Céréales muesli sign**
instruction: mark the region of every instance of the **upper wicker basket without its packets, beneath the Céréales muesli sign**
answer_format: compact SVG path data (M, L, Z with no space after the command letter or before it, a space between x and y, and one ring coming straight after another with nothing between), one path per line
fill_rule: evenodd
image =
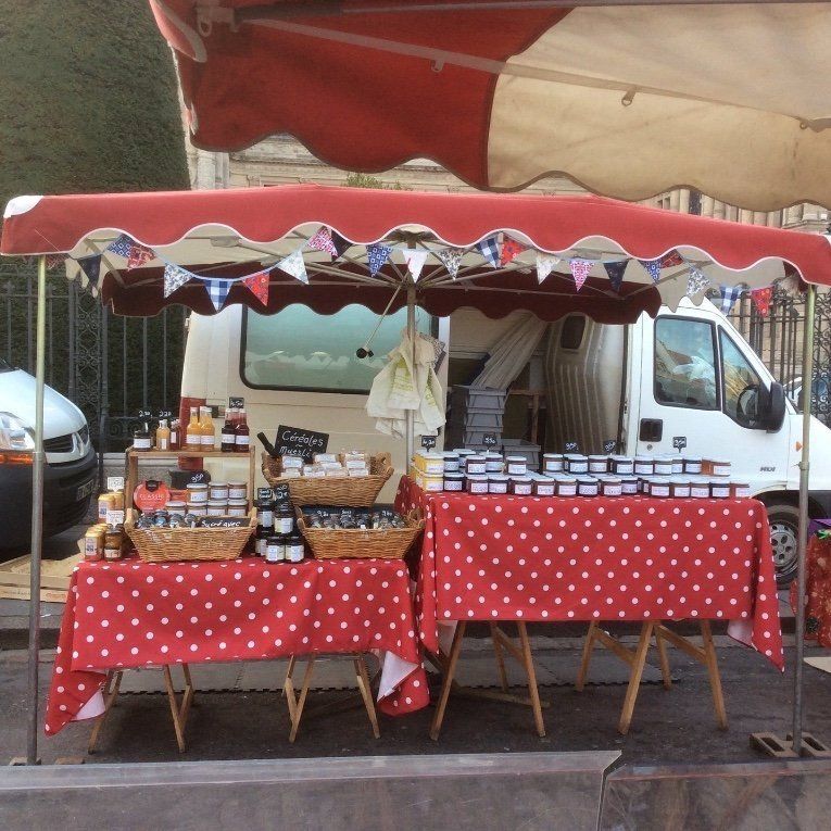
M370 507L378 499L381 488L392 476L389 453L378 453L369 463L369 476L347 479L284 479L280 476L280 459L263 453L263 476L274 487L287 484L291 501L295 505L347 505L348 507Z

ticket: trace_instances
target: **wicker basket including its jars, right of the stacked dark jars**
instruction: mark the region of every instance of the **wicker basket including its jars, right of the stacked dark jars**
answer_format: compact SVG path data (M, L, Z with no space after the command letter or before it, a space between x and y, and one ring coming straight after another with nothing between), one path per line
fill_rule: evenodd
M298 508L298 528L316 559L403 559L424 530L417 511L324 512Z

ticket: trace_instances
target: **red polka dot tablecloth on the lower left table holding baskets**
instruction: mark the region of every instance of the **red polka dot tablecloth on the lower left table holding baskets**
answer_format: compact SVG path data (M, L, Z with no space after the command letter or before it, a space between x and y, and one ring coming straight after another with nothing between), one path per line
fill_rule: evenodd
M83 563L61 625L46 731L56 733L100 693L102 670L370 650L394 665L394 681L382 673L379 708L427 706L401 562Z

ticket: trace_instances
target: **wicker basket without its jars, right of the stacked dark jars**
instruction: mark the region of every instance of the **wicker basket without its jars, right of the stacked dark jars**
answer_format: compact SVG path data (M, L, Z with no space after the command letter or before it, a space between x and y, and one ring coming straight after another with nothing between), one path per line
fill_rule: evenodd
M417 511L411 511L404 519L406 528L385 530L309 528L298 511L298 528L316 559L403 559L424 530Z

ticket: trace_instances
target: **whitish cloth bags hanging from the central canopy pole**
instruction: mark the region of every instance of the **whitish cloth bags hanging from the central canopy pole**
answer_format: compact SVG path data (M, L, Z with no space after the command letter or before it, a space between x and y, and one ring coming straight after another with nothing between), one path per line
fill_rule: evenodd
M403 438L406 411L415 413L415 433L436 436L444 424L441 385L433 365L436 351L431 341L416 337L415 366L413 342L403 336L389 355L389 363L375 376L366 401L367 414L375 418L375 429L386 436Z

